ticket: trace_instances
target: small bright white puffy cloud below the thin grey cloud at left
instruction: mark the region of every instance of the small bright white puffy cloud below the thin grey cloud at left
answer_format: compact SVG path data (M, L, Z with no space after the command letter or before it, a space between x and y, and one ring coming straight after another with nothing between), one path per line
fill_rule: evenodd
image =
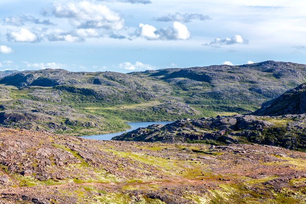
M39 37L26 28L20 28L18 31L8 30L6 37L8 41L20 43L34 43L39 41Z

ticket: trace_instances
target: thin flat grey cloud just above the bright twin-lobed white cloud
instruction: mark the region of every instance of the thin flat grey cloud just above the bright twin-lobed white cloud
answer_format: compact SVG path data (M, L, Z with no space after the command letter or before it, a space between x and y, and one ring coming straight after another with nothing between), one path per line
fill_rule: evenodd
M155 21L161 21L161 22L170 22L170 21L177 21L177 22L183 22L183 23L190 23L192 20L199 20L199 21L205 21L210 20L211 18L209 16L204 16L203 14L198 13L175 13L175 14L167 14L162 17L154 18Z

